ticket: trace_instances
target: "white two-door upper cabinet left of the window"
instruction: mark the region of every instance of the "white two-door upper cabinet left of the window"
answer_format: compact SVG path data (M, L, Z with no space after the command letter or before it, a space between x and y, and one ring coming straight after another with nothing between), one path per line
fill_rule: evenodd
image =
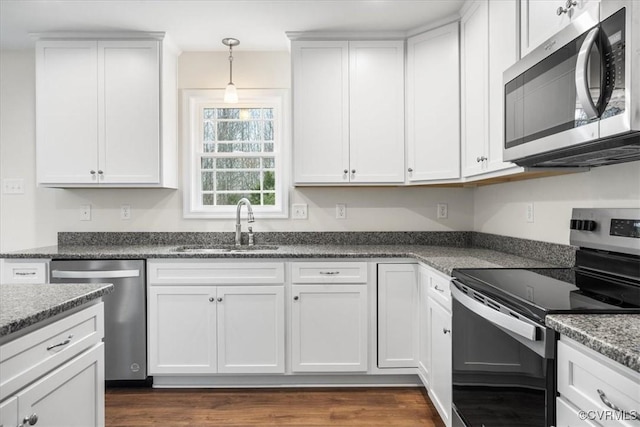
M176 187L176 53L87 37L36 43L38 184Z

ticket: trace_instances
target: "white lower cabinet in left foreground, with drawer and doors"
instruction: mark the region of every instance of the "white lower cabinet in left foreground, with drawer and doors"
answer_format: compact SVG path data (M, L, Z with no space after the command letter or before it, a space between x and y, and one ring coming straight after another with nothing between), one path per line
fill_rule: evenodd
M103 305L0 346L0 426L104 426Z

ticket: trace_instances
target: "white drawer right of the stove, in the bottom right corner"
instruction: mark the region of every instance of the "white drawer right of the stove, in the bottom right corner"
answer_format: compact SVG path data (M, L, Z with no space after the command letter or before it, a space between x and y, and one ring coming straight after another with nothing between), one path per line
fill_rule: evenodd
M638 384L640 373L564 336L558 342L560 396L583 411L592 411L598 424L637 426L638 422L631 421L631 417L618 420L605 400L623 411L639 413Z

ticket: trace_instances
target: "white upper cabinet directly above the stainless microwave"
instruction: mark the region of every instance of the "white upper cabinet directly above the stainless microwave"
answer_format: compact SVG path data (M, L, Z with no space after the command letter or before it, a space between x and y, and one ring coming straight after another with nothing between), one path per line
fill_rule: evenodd
M525 56L569 25L572 19L585 11L597 8L600 3L600 0L574 1L575 5L566 0L520 0L521 56ZM560 14L559 10L562 11Z

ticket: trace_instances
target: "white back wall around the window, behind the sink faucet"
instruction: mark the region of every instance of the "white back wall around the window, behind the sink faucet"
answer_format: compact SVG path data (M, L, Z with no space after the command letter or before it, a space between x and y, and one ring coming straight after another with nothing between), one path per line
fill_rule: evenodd
M223 88L228 55L184 53L179 88ZM289 88L288 52L234 53L239 88ZM56 243L58 231L233 231L232 220L185 220L180 190L50 189L35 185L35 54L0 52L0 177L23 178L25 194L0 194L0 251ZM255 231L446 231L473 226L473 190L441 188L292 188L291 203L309 205L308 220L258 220ZM449 218L436 219L436 204L449 204ZM335 204L347 204L347 219L335 219ZM79 206L92 205L92 221L79 220ZM129 204L132 219L120 220Z

